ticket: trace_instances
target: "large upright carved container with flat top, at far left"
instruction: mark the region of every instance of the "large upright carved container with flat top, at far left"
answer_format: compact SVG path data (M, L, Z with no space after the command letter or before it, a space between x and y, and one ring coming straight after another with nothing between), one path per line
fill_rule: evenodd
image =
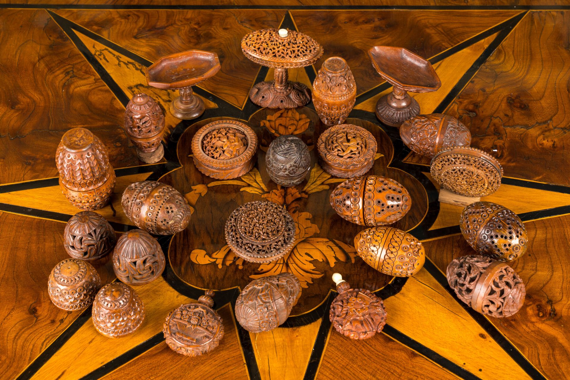
M72 205L98 210L109 203L115 189L115 170L107 148L88 129L74 128L63 134L55 153L59 186Z

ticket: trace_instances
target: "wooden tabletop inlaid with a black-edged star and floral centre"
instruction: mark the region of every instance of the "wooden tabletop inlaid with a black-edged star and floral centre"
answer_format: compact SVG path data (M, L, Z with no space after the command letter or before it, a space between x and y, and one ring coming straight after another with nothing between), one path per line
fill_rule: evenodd
M0 5L0 378L568 377L567 1L64 2ZM376 137L370 173L396 179L412 196L412 210L393 226L424 242L427 259L417 275L382 275L355 254L353 237L362 227L329 206L331 190L343 179L317 164L314 136L323 125L313 105L260 109L249 100L249 89L272 79L273 70L243 56L240 41L250 31L276 27L303 32L324 48L314 66L290 70L290 80L310 86L330 56L343 57L351 67L357 97L347 122ZM442 86L412 94L421 112L457 117L471 130L472 145L503 166L502 185L483 200L513 210L527 228L529 249L511 263L527 287L524 306L514 316L484 317L447 285L451 259L474 252L459 232L462 209L438 202L429 161L411 153L398 130L374 116L378 98L391 91L369 62L367 51L375 45L405 47L429 59ZM133 93L145 92L168 110L176 92L148 87L144 68L192 48L214 51L221 62L217 75L194 88L206 112L181 121L167 111L165 158L145 165L123 132L124 107ZM205 177L192 161L193 134L219 119L247 122L259 138L254 169L231 181ZM117 232L135 228L120 205L132 182L168 183L193 210L185 231L158 239L166 270L136 287L146 319L119 339L97 333L90 308L65 312L47 292L51 269L68 257L65 223L79 211L59 189L55 150L63 133L77 126L90 129L109 150L117 184L112 205L97 212ZM291 189L276 186L264 167L264 152L280 134L296 134L311 149L310 177ZM238 205L264 199L287 207L298 231L295 246L278 261L247 263L227 247L223 225ZM103 283L115 280L108 257L94 264ZM239 289L283 271L302 284L292 316L271 332L247 332L234 317ZM333 272L384 299L388 323L382 333L352 341L331 329ZM184 357L165 344L162 324L170 310L196 300L203 289L217 291L215 308L226 333L214 352Z

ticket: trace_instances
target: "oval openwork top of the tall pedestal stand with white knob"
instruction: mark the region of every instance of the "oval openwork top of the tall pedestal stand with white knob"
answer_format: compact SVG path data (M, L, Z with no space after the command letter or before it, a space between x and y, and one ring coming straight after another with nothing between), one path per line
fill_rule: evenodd
M288 29L286 37L280 37L277 29L246 34L242 51L253 62L275 68L310 66L323 55L323 47L310 36Z

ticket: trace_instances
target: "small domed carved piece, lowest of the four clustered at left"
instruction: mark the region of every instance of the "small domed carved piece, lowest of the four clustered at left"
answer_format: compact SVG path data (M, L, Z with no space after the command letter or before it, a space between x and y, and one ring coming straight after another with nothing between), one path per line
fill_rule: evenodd
M105 285L93 301L92 320L98 332L119 338L135 332L143 323L145 309L139 295L123 283Z

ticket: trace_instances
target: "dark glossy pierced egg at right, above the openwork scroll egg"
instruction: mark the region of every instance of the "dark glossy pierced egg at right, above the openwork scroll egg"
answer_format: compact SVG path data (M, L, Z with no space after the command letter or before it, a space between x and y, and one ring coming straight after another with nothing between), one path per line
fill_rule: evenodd
M527 251L527 230L507 207L491 202L471 203L459 217L459 228L478 254L512 261Z

